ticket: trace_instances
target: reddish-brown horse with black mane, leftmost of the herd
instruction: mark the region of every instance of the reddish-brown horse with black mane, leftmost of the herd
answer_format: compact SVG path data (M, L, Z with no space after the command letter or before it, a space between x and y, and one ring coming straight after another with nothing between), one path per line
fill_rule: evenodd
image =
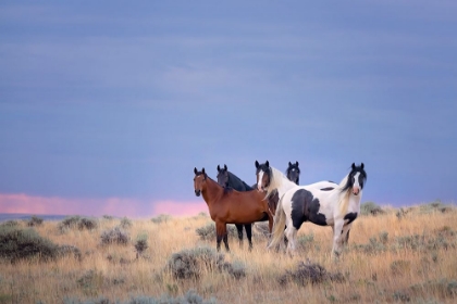
M251 224L268 218L269 230L273 226L273 215L270 212L265 194L261 191L251 190L238 192L223 188L215 180L212 180L206 173L194 168L195 194L203 197L207 202L211 219L215 223L217 249L221 249L221 241L224 241L225 250L228 249L227 224Z

